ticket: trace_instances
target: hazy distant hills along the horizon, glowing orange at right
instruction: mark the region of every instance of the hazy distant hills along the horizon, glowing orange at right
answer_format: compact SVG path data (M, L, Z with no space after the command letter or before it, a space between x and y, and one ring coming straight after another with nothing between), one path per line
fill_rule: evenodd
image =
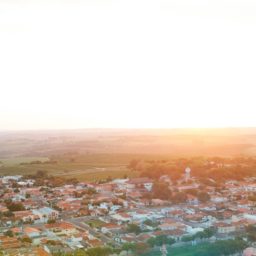
M0 159L81 154L255 155L256 128L0 132Z

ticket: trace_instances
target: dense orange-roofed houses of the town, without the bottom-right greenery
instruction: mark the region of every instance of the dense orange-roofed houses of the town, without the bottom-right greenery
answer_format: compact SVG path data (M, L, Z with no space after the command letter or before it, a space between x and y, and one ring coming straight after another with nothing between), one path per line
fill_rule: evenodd
M51 255L146 242L159 235L183 243L183 237L208 228L215 231L214 239L228 239L256 224L254 179L229 180L216 189L201 186L186 169L183 182L174 185L168 176L160 181L170 191L186 194L186 201L148 198L154 181L147 177L61 187L36 186L35 180L22 176L1 177L0 250L35 248L34 255ZM209 200L200 201L193 190L207 193Z

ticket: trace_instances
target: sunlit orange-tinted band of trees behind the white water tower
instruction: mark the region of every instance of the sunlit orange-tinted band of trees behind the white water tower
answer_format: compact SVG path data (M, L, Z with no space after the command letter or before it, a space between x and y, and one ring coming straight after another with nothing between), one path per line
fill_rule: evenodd
M145 161L133 159L128 168L138 171L141 176L159 179L162 175L169 175L172 181L177 181L184 174L186 166L193 170L193 176L207 180L209 177L222 182L225 179L241 180L244 177L253 176L256 172L256 158L177 158L157 161Z

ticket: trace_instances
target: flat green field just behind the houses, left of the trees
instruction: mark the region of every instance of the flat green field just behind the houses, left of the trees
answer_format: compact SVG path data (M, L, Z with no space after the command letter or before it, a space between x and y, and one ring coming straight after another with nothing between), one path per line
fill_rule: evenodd
M107 178L137 177L138 172L127 168L131 156L115 154L95 154L83 156L17 157L1 159L0 175L34 174L38 170L47 171L49 175L76 178L80 181L97 181ZM41 161L39 164L30 164ZM21 163L26 163L21 164Z

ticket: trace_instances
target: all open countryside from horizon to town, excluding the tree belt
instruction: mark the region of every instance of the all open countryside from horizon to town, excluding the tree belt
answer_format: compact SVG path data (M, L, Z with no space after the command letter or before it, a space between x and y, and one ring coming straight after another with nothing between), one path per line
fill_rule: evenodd
M256 129L85 129L0 133L0 175L33 174L97 180L136 177L132 159L252 156Z

